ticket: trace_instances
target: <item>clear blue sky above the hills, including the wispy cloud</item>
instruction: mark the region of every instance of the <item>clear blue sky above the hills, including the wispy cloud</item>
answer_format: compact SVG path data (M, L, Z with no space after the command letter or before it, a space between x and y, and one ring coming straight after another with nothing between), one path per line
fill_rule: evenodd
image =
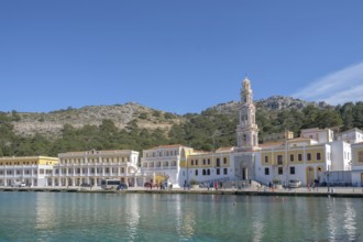
M2 0L0 111L363 100L363 1Z

